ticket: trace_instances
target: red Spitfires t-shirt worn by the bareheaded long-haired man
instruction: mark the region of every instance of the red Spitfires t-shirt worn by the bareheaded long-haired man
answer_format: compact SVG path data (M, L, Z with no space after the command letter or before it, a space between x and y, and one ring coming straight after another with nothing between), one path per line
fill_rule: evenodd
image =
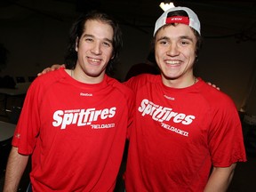
M32 154L35 191L112 191L134 95L115 79L77 82L60 68L30 85L12 145Z

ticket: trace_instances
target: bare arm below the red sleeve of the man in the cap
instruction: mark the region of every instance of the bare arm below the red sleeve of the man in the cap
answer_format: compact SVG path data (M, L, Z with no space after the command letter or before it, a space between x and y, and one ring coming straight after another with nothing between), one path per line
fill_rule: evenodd
M207 182L204 192L224 192L233 178L236 164L229 167L213 167L210 178Z

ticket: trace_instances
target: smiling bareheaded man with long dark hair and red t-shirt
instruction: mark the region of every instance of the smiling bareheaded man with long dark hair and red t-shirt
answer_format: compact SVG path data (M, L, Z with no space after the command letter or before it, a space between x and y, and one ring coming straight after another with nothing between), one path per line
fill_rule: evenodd
M115 20L89 12L71 28L67 69L30 85L12 140L4 192L17 191L28 156L30 191L113 191L134 94L106 75L122 46Z

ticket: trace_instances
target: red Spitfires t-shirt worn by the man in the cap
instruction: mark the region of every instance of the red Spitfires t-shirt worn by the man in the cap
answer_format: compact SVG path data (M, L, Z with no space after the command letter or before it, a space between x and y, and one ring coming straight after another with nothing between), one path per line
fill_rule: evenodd
M124 177L128 192L203 191L212 164L246 161L236 106L223 92L200 78L183 89L154 75L125 84L136 93Z

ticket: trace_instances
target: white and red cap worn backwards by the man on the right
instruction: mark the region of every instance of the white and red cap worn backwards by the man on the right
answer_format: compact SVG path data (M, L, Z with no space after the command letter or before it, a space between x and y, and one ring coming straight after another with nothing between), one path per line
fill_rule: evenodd
M175 11L184 11L187 12L188 16L168 16L170 12ZM171 9L168 9L165 11L158 20L156 20L155 30L154 30L154 36L156 35L156 31L159 28L162 28L165 24L170 23L183 23L188 25L191 28L194 28L199 35L200 33L200 21L197 18L197 15L195 12L193 12L188 7L172 7Z

